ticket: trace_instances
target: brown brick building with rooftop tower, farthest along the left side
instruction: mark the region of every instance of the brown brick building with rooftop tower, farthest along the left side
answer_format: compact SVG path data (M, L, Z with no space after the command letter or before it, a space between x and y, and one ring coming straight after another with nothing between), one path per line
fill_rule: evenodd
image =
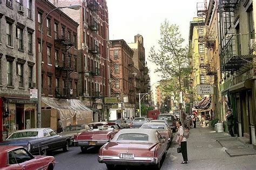
M134 86L135 93L149 93L150 94L150 77L149 69L147 68L147 63L145 60L145 48L143 45L143 37L140 34L134 36L134 43L128 44L130 48L134 51L133 62L134 62L134 72L137 73ZM149 103L146 96L143 101L144 103ZM136 95L136 101L138 102L139 96Z

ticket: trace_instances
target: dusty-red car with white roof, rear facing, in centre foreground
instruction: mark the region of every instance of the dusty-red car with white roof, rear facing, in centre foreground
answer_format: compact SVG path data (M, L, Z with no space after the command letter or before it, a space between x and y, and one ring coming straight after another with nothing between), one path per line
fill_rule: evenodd
M98 161L107 169L116 165L151 165L160 169L165 157L168 140L154 129L122 129L99 150Z

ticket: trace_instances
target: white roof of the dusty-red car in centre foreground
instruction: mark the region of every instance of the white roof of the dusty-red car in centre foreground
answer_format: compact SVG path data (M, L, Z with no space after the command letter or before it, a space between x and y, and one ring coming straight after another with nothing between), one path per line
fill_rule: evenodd
M118 137L121 134L127 134L127 133L140 133L140 134L147 134L149 136L149 143L158 143L159 140L156 136L156 129L121 129L111 140L112 142L117 142ZM139 141L139 142L144 142L144 141Z

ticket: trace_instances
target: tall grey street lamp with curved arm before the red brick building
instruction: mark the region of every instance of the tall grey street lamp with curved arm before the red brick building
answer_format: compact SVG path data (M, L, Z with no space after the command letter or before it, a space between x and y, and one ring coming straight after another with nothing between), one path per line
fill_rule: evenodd
M62 9L62 8L69 8L73 10L79 10L81 8L81 5L70 5L70 6L60 6L53 10L51 10L43 19L43 22L41 24L41 39L40 39L40 56L37 60L37 88L38 88L38 101L37 101L37 126L38 128L41 128L41 102L42 102L42 58L43 58L43 25L46 20L46 18L50 15L51 12Z

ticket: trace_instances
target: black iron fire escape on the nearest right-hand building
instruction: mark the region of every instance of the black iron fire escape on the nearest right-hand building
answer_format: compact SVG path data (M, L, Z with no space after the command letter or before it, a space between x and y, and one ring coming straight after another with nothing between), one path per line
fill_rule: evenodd
M220 24L224 25L221 36L221 72L226 76L239 75L252 68L255 58L255 34L241 34L240 28L231 23L241 0L220 0ZM225 77L224 77L225 79Z

